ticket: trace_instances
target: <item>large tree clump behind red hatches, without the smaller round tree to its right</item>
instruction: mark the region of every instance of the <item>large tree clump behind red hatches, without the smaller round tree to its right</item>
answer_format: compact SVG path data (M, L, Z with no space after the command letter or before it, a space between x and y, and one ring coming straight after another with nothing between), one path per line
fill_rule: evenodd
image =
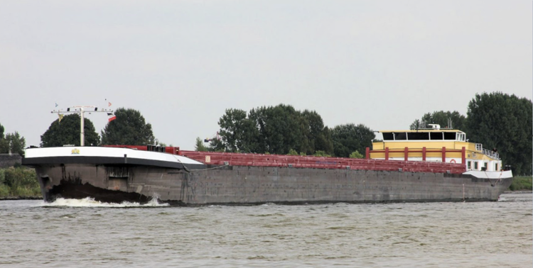
M253 108L249 113L230 108L218 125L221 140L213 140L210 150L279 155L291 149L305 154L333 152L328 128L315 111L296 111L284 104Z

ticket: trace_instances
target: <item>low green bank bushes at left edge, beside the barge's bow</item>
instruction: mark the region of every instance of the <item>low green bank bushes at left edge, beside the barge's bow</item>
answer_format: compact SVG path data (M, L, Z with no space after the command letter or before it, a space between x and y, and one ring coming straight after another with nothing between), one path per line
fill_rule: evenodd
M0 169L0 197L41 196L35 169L9 167Z

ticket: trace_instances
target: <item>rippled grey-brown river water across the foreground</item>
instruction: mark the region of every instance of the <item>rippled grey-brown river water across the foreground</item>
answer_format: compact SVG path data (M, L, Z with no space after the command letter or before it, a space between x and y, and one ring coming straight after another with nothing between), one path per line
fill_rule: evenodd
M532 206L0 201L0 267L532 267Z

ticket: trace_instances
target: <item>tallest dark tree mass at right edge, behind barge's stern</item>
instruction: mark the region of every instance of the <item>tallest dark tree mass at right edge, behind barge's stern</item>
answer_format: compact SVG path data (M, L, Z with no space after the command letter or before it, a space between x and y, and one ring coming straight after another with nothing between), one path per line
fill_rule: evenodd
M502 92L475 94L468 103L466 138L496 148L513 173L532 174L532 101Z

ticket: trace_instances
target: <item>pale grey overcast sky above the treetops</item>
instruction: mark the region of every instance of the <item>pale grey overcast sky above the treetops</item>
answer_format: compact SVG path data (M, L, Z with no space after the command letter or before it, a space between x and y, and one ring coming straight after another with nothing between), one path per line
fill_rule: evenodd
M227 108L407 129L432 111L466 115L476 93L532 99L532 13L529 0L4 0L0 124L39 145L55 103L110 101L184 150Z

